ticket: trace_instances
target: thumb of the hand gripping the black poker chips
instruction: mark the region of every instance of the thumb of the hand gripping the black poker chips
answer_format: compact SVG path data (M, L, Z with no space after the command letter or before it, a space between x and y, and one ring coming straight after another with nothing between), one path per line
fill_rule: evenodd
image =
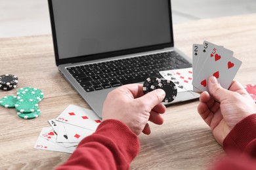
M147 105L151 108L154 108L156 105L161 103L165 97L165 91L162 89L156 89L152 92L146 93L145 95L142 95L139 99L142 101L146 101Z

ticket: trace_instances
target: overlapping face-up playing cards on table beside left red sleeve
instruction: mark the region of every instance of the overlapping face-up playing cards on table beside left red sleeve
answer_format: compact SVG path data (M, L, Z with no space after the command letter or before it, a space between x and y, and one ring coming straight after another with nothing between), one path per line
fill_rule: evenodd
M34 148L72 153L83 138L95 132L102 120L93 110L69 105L48 122L51 127L42 129Z

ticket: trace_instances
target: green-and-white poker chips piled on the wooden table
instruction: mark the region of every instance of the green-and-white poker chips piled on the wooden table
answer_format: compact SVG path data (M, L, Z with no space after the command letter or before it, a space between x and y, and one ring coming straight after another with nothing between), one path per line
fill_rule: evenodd
M20 88L17 96L7 95L0 99L0 105L5 108L16 108L17 115L24 119L37 118L41 111L38 103L43 99L43 92L37 88Z

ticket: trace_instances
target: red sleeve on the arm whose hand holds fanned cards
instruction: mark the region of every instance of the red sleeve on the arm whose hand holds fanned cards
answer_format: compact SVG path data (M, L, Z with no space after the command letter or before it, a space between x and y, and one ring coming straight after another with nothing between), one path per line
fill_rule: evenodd
M223 141L228 154L215 169L256 169L256 114L247 116L228 133Z

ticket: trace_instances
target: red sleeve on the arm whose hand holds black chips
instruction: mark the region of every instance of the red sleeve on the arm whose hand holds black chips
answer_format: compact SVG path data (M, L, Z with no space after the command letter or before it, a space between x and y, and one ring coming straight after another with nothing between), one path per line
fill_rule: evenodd
M118 120L105 120L56 169L129 169L139 148L139 139L129 127Z

